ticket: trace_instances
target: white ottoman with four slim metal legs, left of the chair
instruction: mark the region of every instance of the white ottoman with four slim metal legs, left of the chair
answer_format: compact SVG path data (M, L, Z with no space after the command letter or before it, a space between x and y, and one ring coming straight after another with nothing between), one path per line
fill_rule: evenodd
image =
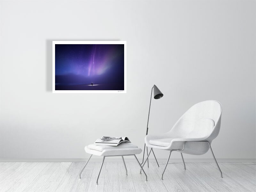
M102 165L104 163L105 157L107 157L107 156L122 156L126 175L127 175L127 169L126 169L126 165L125 165L125 162L124 162L124 156L129 156L129 155L134 156L136 161L140 165L140 162L138 161L138 159L135 155L140 154L141 151L142 151L141 148L138 148L136 145L133 145L131 143L120 143L118 146L107 146L107 145L91 144L91 145L85 146L84 150L85 150L86 153L91 154L91 156L87 160L86 164L84 165L84 168L87 165L87 163L89 162L89 160L91 159L92 155L103 156L103 160L102 160L102 163L101 163L101 166L100 166L100 171L101 171ZM84 171L84 168L79 173L79 178L81 178L81 174ZM147 181L148 177L147 177L146 173L144 172L141 165L140 165L140 169L145 174L146 181ZM97 185L98 185L98 180L99 180L99 177L100 177L100 171L99 171L99 174L98 174L98 177L97 177L97 180L96 180Z

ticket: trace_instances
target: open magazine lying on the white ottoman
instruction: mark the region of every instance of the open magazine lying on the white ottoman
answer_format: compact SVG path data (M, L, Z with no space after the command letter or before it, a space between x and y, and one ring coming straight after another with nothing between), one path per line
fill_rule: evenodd
M120 143L131 143L131 141L127 137L109 137L103 136L101 139L97 139L95 141L95 145L109 145L109 146L117 146Z

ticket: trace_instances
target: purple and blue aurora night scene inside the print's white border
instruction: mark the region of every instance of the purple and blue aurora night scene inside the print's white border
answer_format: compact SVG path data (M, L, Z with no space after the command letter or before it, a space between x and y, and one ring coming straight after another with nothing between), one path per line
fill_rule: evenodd
M123 44L55 44L55 88L99 90L124 87ZM94 88L96 89L96 88Z

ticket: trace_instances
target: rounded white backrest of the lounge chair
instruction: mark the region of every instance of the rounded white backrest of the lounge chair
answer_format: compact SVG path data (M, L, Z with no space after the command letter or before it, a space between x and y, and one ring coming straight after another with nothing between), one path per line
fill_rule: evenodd
M215 100L195 104L170 130L176 138L205 138L211 142L220 132L222 106Z

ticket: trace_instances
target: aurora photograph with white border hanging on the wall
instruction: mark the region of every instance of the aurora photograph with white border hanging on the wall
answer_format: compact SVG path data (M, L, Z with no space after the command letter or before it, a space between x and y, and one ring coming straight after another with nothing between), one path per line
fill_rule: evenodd
M52 41L53 93L126 93L126 41Z

